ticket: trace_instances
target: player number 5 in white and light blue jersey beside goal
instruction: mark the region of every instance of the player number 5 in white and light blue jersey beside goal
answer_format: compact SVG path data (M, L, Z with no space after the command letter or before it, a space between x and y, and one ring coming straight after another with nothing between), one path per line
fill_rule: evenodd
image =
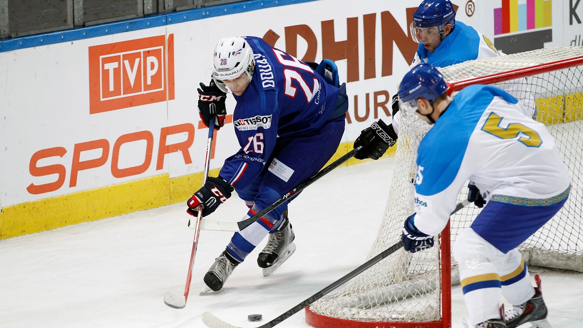
M433 246L474 181L486 206L456 238L462 291L472 327L546 327L540 280L532 288L517 246L563 207L571 188L567 166L545 125L505 91L474 85L454 98L429 64L410 70L398 88L403 115L415 113L432 128L417 150L415 213L404 223L407 251ZM500 315L501 298L512 308Z

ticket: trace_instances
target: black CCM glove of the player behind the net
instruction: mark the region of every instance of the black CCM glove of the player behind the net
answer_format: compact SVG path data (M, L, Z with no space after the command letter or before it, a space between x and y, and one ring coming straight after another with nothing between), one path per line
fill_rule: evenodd
M360 132L360 136L354 141L354 148L363 146L354 158L364 160L364 158L371 158L378 160L387 149L395 144L397 134L393 129L393 125L386 125L382 119L371 124L370 127Z

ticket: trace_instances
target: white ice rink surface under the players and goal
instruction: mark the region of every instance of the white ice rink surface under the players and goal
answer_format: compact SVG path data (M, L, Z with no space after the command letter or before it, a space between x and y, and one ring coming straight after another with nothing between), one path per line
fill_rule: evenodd
M184 291L194 230L185 204L139 211L0 241L0 327L204 327L212 312L257 327L288 311L366 260L388 195L393 159L337 168L291 202L297 251L269 277L257 266L264 242L240 264L223 290L200 295L202 277L231 232L201 231L184 309L163 295ZM196 191L199 186L192 186ZM237 221L247 212L237 196L210 218ZM541 270L553 327L583 327L583 274ZM468 318L453 289L453 327ZM262 314L263 322L247 315ZM304 311L278 327L309 327Z

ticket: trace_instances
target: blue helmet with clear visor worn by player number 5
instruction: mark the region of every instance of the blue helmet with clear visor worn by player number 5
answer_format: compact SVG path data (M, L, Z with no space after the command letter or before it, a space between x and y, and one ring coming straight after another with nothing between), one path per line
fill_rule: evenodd
M434 101L447 90L443 75L431 64L419 64L403 76L397 93L399 107L403 114L409 116L417 109L417 99Z

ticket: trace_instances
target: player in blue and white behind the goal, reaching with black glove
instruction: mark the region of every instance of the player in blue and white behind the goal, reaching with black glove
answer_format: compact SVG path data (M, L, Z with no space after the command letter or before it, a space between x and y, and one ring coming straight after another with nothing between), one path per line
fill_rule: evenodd
M455 20L454 5L449 0L424 0L413 13L413 22L409 29L413 41L419 43L410 68L421 63L445 67L500 55L494 44L482 33ZM355 147L376 144L377 150L366 153L363 149L354 157L376 159L379 154L382 156L388 146L394 144L399 133L401 114L398 95L395 94L392 100L392 123L387 125L382 119L374 122L370 128L361 132L355 144ZM390 137L389 142L392 144L387 144L386 136Z

